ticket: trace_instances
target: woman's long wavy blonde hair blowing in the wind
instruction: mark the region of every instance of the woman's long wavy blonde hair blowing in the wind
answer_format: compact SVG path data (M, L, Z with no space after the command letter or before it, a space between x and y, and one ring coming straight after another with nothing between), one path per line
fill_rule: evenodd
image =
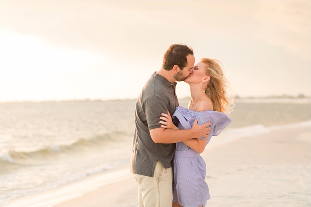
M232 89L225 78L224 66L216 59L202 58L201 62L206 66L205 74L211 77L205 93L211 99L214 111L230 114L234 97L233 93L229 94Z

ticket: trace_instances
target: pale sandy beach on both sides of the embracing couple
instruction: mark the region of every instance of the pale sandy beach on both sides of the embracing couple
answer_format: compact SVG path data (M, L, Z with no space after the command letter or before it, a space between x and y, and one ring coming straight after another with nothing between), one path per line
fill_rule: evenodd
M201 154L211 194L207 206L310 206L310 125L267 129ZM138 206L137 183L124 163L8 206Z

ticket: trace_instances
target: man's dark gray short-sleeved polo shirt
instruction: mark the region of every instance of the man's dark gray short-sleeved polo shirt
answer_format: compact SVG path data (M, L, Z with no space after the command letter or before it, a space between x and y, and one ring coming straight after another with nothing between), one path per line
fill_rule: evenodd
M154 143L149 130L160 128L160 113L174 114L178 107L176 82L153 73L142 89L135 108L135 133L130 161L131 173L153 177L156 161L165 168L172 166L174 144Z

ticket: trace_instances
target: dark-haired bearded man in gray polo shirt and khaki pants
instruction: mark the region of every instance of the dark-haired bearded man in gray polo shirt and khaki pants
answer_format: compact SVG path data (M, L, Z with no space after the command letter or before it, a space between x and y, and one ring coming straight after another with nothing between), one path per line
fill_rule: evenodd
M159 123L161 113L168 110L174 114L179 105L175 81L183 81L192 73L194 62L188 46L169 46L162 68L152 74L137 99L130 170L138 183L139 206L172 206L175 143L208 137L210 123L195 123L188 130L165 129Z

